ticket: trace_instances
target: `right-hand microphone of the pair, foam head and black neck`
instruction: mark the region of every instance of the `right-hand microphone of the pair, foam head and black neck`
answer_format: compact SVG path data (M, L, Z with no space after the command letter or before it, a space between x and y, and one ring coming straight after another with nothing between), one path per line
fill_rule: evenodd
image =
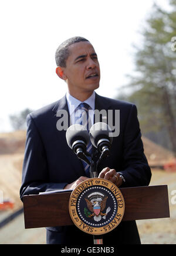
M110 133L110 126L106 123L95 123L90 128L90 141L101 152L100 159L110 155L110 147L113 142L113 137L109 136Z

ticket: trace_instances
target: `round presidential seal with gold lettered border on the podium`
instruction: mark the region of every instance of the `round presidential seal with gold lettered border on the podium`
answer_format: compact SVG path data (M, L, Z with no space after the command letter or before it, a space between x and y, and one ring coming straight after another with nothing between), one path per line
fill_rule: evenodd
M124 198L109 180L92 178L80 183L70 195L69 212L82 231L101 235L116 228L123 218Z

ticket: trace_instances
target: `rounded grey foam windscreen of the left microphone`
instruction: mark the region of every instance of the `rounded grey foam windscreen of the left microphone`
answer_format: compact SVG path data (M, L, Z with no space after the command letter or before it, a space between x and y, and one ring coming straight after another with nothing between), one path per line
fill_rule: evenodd
M66 131L66 140L70 149L72 149L73 142L76 142L76 140L83 140L87 146L89 144L89 133L85 126L81 124L73 124Z

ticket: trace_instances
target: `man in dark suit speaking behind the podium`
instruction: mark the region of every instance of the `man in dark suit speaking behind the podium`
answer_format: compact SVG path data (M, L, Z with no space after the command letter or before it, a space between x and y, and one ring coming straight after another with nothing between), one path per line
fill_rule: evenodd
M120 110L120 134L113 137L111 154L99 165L99 178L121 187L148 185L151 171L143 152L136 106L94 92L99 88L100 67L92 44L82 37L66 40L57 48L56 64L56 74L66 81L68 91L59 101L28 115L21 199L49 190L75 189L89 178L82 160L67 146L66 131L56 127L58 111L66 110L69 124L73 124L80 103L88 104L93 111ZM93 124L93 116L90 119ZM93 237L74 225L46 229L48 244L93 244ZM140 244L136 222L121 222L103 236L104 244L118 242Z

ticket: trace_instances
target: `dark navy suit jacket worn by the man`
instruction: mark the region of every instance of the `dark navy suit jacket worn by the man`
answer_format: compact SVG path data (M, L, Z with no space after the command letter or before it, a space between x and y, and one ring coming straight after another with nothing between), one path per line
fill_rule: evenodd
M21 199L23 195L63 189L67 183L72 183L80 176L86 176L82 161L67 146L66 131L58 131L56 128L60 118L56 113L62 109L68 111L66 97L33 111L27 117ZM122 186L148 185L151 171L143 152L136 106L96 94L95 109L120 110L120 134L113 137L111 155L100 163L99 172L108 166L123 173L126 182ZM91 235L75 226L48 227L47 238L48 243L57 244L82 245L93 242ZM114 231L104 235L103 240L107 244L117 244L117 241L125 244L140 242L136 223L121 222Z

